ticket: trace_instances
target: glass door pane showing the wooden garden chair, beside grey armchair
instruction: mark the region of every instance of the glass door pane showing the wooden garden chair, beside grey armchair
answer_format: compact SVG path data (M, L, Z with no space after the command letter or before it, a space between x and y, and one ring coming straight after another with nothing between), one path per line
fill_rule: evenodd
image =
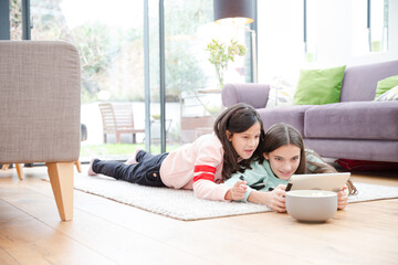
M30 3L32 40L64 40L80 52L82 124L88 131L81 159L126 159L144 148L143 1Z

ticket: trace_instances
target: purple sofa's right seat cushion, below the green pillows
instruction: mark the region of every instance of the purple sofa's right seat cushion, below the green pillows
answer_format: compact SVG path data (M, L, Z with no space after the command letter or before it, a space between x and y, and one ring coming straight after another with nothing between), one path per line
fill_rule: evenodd
M305 112L304 136L331 139L398 140L398 102L352 102Z

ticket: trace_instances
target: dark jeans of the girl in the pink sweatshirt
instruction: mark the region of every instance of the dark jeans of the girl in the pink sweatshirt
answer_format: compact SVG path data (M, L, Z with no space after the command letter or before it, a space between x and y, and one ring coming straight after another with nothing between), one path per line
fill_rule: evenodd
M165 187L159 170L167 155L166 152L154 156L140 150L136 156L137 163L133 165L95 159L93 161L93 171L142 186Z

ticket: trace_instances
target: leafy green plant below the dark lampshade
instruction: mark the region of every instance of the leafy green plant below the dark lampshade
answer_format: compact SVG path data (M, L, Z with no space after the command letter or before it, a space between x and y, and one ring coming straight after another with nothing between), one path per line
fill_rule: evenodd
M219 88L223 87L223 74L228 67L228 62L233 62L234 56L243 56L247 49L242 44L238 44L238 41L231 40L229 45L211 40L208 44L207 52L209 52L209 62L214 65L217 77L219 81Z

